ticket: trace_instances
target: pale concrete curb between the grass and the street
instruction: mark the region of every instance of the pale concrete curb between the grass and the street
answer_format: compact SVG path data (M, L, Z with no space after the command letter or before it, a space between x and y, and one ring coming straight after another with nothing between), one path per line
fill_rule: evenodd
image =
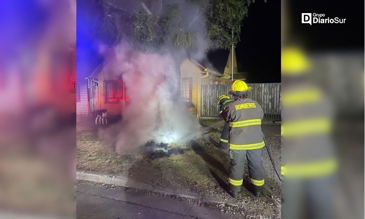
M112 184L116 186L130 187L138 190L147 190L150 192L165 193L167 195L176 195L178 197L201 200L202 196L195 193L178 193L167 189L154 189L152 186L142 182L138 182L131 178L120 175L105 174L88 170L76 170L77 180L86 180L90 182L99 182L104 184Z

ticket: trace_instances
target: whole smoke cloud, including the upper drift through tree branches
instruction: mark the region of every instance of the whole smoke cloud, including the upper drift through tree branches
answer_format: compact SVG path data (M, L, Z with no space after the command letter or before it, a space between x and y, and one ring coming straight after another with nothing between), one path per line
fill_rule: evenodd
M99 131L100 137L112 139L116 151L133 151L153 139L157 142L182 142L201 136L200 124L180 100L172 99L178 91L180 74L176 71L176 57L190 57L202 60L206 56L205 7L207 1L192 4L188 0L161 1L151 4L151 10L163 16L166 5L178 3L180 19L185 30L195 35L193 50L176 48L165 42L153 52L138 52L121 42L109 51L102 46L102 53L107 61L103 73L105 78L122 78L126 84L126 95L131 102L122 110L122 121L108 129ZM200 6L199 6L200 5ZM139 7L130 5L130 7ZM138 10L138 8L134 8ZM141 10L141 8L139 8ZM132 11L130 11L132 12ZM169 52L166 52L169 51Z

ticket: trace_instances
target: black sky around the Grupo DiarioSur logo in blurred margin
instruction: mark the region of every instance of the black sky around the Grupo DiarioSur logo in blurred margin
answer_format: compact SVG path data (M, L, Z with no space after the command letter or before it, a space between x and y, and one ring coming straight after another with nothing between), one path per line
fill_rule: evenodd
M322 51L364 52L364 1L306 0L288 1L292 19L292 37L307 49ZM301 13L325 14L325 18L346 18L344 24L301 23Z

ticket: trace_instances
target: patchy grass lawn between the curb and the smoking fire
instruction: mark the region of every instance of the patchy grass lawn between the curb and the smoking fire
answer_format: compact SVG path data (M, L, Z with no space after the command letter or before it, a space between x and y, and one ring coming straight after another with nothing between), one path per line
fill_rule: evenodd
M217 121L201 123L208 126ZM117 154L112 151L112 145L99 140L91 130L77 127L77 169L124 175L158 187L177 184L210 187L216 185L212 175L218 180L226 180L229 159L215 147L220 131L211 131L208 135L209 140L191 143L181 154L151 159L147 153Z

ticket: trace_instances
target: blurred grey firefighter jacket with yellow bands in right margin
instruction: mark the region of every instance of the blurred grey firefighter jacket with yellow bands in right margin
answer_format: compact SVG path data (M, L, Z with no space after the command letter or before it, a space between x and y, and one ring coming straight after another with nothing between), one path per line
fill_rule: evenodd
M337 171L333 105L319 87L301 83L283 90L281 175L317 178Z

